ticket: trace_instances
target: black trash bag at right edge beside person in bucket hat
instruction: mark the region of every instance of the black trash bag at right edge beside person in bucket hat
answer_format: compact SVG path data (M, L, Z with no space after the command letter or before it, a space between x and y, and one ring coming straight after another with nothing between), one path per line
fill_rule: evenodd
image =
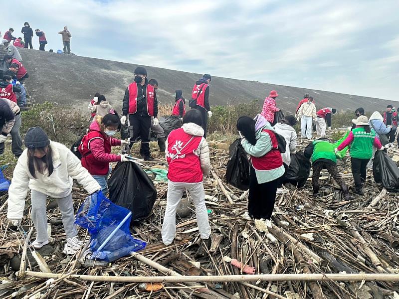
M399 168L385 150L377 150L374 156L373 176L376 183L382 183L388 191L399 191Z

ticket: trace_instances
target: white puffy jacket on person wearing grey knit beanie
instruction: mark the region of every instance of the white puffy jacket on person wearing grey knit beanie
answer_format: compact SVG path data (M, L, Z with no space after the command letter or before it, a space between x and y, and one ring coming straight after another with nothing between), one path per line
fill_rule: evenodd
M50 142L50 148L54 165L54 171L50 176L46 173L47 171L44 174L36 171L37 178L30 174L27 149L18 158L8 189L8 219L22 219L28 188L53 198L68 196L72 191L72 179L76 179L83 185L89 194L101 189L98 182L82 166L72 151L56 142Z

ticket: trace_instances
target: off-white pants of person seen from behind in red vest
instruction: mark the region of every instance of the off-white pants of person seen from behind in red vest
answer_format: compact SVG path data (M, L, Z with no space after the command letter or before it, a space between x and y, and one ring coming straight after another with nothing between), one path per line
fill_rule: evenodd
M165 245L173 242L176 235L176 210L182 199L185 190L190 192L196 205L197 224L202 239L208 239L210 236L210 227L208 221L208 212L205 206L205 191L202 182L200 183L175 183L169 181L167 206L162 224L162 241Z

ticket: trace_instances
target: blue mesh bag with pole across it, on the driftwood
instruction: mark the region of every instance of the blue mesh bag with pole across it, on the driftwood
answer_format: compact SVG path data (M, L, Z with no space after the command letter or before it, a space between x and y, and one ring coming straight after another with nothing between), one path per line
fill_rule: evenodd
M113 262L146 247L146 243L134 239L129 230L131 212L112 203L102 192L87 196L75 217L75 223L91 234L92 259ZM118 225L125 222L118 228ZM108 243L97 251L112 233Z

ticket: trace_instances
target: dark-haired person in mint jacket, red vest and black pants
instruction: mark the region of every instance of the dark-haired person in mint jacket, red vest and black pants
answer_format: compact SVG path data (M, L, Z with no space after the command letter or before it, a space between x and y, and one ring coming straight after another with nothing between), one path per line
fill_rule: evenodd
M242 147L250 155L248 214L255 225L258 220L270 227L278 178L285 172L274 130L259 114L255 119L240 117L237 130L243 137Z

